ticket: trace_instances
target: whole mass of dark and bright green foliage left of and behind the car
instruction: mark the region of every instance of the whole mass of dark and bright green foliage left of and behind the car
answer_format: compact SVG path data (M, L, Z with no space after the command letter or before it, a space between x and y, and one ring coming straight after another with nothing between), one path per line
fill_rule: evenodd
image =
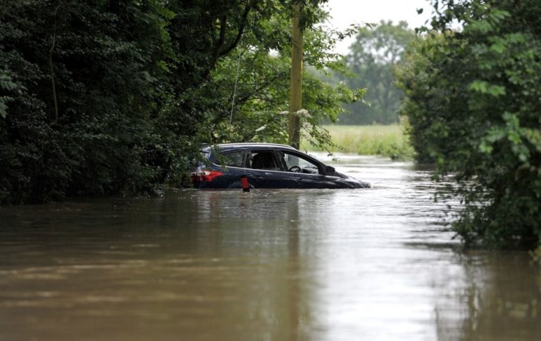
M302 13L305 63L322 70L340 67L337 38L313 28L325 1ZM285 141L291 13L287 0L0 0L0 203L151 193L183 184L201 141ZM324 143L319 118L361 94L305 84L305 133Z

